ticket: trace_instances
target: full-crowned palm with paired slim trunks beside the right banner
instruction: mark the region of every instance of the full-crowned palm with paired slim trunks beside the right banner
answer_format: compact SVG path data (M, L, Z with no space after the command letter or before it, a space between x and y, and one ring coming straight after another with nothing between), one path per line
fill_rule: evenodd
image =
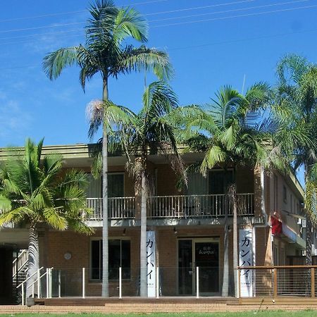
M204 151L200 171L206 175L207 170L223 166L225 170L225 235L222 296L228 297L229 263L228 263L228 210L233 209L233 271L235 295L237 296L237 197L235 188L235 170L239 166L255 168L266 163L267 148L264 141L270 139L273 125L268 118L262 118L260 107L268 100L268 86L263 83L252 86L242 96L230 86L221 88L216 99L211 99L204 111L198 110L198 116L189 121L193 134L187 143L189 149ZM195 129L193 129L195 127ZM233 178L228 170L233 169Z

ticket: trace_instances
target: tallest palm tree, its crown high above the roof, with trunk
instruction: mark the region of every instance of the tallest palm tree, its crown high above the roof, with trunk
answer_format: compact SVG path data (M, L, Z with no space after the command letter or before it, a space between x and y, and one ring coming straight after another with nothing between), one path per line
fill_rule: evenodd
M102 99L108 101L108 79L132 71L153 70L161 79L170 77L172 68L168 55L142 45L125 44L132 37L147 42L147 23L133 8L118 8L111 0L96 0L89 8L91 18L86 25L85 46L61 48L44 58L44 71L56 79L61 71L76 64L80 67L80 82L85 91L86 80L99 73L103 82ZM106 115L105 115L106 116ZM102 296L108 297L108 122L104 122L103 157L103 275Z

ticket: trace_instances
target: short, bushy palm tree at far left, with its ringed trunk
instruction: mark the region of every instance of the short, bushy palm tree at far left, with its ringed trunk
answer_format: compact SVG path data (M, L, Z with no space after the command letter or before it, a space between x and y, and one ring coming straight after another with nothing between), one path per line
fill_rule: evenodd
M0 225L17 223L30 230L27 277L39 269L39 241L37 230L49 225L56 230L68 228L91 233L79 211L86 208L86 176L70 170L61 175L61 156L42 156L43 140L39 144L30 139L24 151L8 151L0 166ZM36 275L27 281L27 296Z

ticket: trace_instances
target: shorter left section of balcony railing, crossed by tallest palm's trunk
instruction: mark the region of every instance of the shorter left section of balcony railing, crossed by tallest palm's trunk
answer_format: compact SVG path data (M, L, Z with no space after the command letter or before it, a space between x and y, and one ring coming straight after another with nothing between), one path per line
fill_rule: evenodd
M92 209L88 220L102 220L102 198L87 198L87 207ZM108 198L108 218L128 219L135 217L135 197Z

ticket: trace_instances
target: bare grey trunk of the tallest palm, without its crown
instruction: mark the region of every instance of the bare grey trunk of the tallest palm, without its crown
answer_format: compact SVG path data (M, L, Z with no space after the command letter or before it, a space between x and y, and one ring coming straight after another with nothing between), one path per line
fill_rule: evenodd
M108 78L104 77L103 100L108 100ZM105 116L106 117L106 116ZM109 297L108 255L108 135L106 124L102 131L102 297Z

